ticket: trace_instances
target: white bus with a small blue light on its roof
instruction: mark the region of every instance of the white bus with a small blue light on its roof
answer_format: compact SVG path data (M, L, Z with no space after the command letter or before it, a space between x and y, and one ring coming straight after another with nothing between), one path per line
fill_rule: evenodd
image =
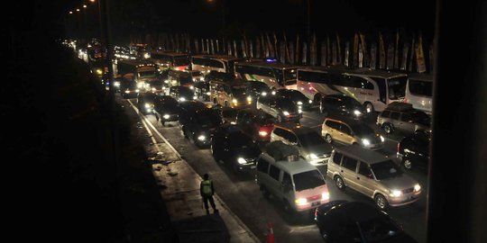
M298 66L277 62L238 62L235 74L246 80L261 81L274 89L296 89Z

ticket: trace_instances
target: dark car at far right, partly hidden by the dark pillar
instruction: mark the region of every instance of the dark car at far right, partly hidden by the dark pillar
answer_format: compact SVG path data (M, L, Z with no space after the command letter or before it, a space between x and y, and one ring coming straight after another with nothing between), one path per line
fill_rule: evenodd
M429 136L416 133L400 140L398 143L400 164L407 169L427 170L429 164Z

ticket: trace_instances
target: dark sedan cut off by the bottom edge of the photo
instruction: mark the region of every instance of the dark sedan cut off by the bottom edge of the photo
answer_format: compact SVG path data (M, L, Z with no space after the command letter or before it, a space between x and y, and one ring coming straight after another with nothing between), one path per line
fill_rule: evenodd
M317 207L315 220L325 242L418 242L389 214L366 202L328 202Z

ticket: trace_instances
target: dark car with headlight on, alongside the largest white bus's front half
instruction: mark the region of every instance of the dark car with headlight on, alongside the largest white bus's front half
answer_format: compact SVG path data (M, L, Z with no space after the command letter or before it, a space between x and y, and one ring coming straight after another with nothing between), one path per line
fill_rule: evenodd
M345 94L330 94L321 99L319 112L326 117L346 116L360 119L367 113L365 106L354 98Z

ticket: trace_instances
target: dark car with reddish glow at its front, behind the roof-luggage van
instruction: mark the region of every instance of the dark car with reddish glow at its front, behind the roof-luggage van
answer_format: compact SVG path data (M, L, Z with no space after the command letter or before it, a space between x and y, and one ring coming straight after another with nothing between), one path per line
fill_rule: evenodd
M268 142L271 140L271 132L274 129L274 118L254 108L246 108L238 111L235 123L243 133L254 141Z

